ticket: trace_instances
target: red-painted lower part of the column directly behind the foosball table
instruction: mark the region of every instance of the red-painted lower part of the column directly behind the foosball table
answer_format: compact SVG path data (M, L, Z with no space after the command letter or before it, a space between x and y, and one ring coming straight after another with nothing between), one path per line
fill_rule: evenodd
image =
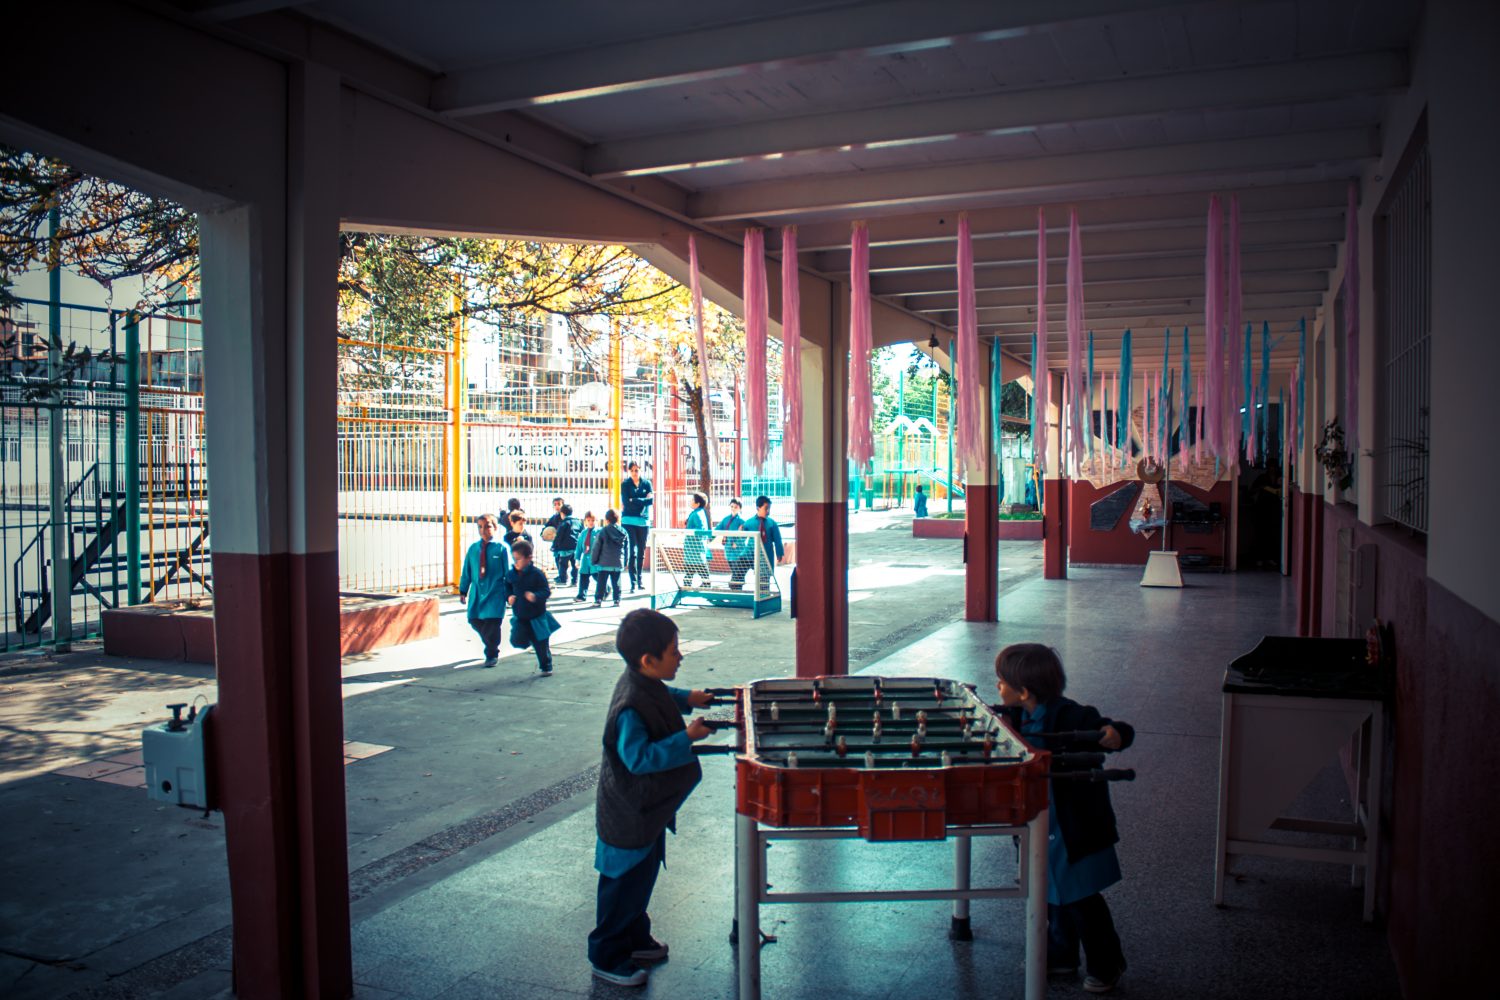
M849 508L796 504L796 676L849 673Z

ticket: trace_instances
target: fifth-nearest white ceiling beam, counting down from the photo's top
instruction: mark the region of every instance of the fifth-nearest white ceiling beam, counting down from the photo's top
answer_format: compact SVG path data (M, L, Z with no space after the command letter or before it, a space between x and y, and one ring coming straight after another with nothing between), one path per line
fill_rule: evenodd
M1088 277L1094 261L1185 256L1203 253L1208 241L1208 204L1203 216L1194 225L1172 229L1137 229L1098 232L1083 237L1083 274ZM1228 226L1226 226L1226 232ZM1290 222L1250 222L1239 226L1240 253L1258 250L1282 250L1308 246L1332 246L1344 238L1344 223L1338 216L1318 219L1296 219ZM952 273L956 267L954 247L942 243L920 243L915 246L888 246L870 249L870 274L902 274L920 271ZM1048 259L1064 261L1068 255L1065 235L1048 237ZM801 255L800 255L801 256ZM976 280L988 267L1036 261L1036 235L998 237L974 244ZM824 274L849 274L849 250L824 250L802 259Z

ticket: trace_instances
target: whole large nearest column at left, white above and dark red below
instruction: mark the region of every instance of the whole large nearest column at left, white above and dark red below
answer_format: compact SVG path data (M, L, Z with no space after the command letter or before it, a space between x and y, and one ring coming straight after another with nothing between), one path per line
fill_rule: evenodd
M290 67L285 199L201 216L224 810L240 997L348 997L339 82Z

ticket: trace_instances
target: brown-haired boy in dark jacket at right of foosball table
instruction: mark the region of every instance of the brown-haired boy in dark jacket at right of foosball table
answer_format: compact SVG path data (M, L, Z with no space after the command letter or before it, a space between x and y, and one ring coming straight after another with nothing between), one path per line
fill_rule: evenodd
M1053 753L1124 750L1136 739L1126 724L1064 697L1062 658L1041 643L1014 643L994 658L1000 702L1023 736L1101 732L1098 742L1041 739ZM1060 744L1060 745L1059 745ZM1054 772L1064 768L1054 766ZM1102 781L1054 780L1048 790L1047 837L1047 972L1077 975L1078 946L1088 958L1083 988L1108 993L1125 975L1114 921L1102 891L1120 880L1114 844L1119 831Z

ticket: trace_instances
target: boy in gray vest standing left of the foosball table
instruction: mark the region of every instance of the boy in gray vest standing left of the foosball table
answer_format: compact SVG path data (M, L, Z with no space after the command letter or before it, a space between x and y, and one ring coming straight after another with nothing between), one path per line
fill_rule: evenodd
M684 724L682 717L712 697L668 687L682 654L676 624L660 612L626 615L615 649L626 670L604 721L594 816L598 910L588 936L588 961L604 982L644 987L642 963L668 955L666 945L651 937L646 915L657 870L666 861L666 831L676 832L676 810L702 778L693 742L710 733L700 718Z

